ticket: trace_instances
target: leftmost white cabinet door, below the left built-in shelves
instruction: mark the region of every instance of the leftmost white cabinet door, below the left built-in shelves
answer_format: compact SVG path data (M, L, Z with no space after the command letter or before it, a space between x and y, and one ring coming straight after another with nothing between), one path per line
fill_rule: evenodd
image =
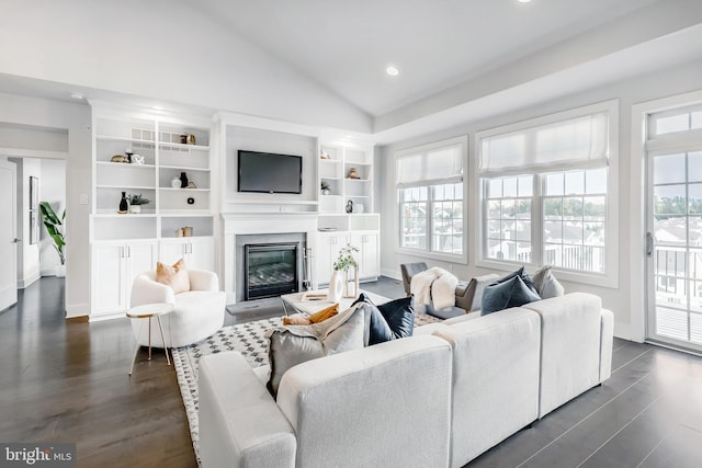
M122 242L93 244L91 315L126 310L124 254Z

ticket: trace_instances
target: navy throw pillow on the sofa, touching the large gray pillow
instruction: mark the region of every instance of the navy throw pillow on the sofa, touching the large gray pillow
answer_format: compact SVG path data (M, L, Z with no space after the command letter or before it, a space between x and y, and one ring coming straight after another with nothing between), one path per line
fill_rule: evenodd
M412 335L415 296L376 306L366 294L361 293L353 304L358 303L365 303L371 307L369 345Z

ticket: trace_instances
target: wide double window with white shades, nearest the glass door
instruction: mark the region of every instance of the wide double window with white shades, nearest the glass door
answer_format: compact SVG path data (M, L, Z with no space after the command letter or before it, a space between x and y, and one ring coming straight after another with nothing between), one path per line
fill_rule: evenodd
M478 264L616 277L615 122L610 102L477 135Z

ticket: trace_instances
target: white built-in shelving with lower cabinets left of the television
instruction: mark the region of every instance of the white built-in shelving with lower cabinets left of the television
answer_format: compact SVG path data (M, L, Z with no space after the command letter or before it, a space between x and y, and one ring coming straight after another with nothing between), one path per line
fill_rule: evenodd
M134 276L157 260L172 263L181 253L214 270L210 127L196 117L93 104L91 317L123 312ZM128 152L132 162L118 162ZM190 186L174 187L183 172ZM150 203L139 214L121 214L123 192ZM192 237L182 237L185 227Z

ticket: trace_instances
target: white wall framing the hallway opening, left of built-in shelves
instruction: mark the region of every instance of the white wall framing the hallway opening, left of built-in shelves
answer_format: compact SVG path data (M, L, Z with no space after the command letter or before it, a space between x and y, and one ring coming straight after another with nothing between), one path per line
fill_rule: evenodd
M80 204L81 195L90 201L91 170L90 107L37 98L0 94L0 123L39 126L68 132L66 160L67 272L66 311L68 317L88 315L90 310L89 215L90 204Z

